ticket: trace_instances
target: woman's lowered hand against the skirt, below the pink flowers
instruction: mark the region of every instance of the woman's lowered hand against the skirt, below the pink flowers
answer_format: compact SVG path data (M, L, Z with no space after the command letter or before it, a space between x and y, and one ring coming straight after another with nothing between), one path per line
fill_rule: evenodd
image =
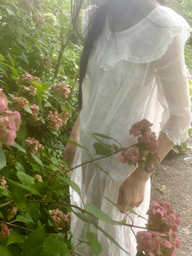
M136 170L129 176L119 189L117 204L124 209L122 213L127 212L127 205L130 207L139 207L143 202L145 195L145 184L150 175L145 173L143 168Z

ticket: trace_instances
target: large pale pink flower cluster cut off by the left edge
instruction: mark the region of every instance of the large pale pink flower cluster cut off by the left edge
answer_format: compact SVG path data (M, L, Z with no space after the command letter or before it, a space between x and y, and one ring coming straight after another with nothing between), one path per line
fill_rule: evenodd
M7 99L0 88L0 147L3 143L7 146L14 144L16 131L19 131L21 123L20 113L6 109L7 106Z

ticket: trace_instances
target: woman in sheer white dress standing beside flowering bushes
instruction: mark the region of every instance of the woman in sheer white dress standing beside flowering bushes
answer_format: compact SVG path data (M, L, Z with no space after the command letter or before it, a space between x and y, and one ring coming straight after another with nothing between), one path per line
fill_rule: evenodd
M83 107L70 140L78 141L92 155L93 132L111 136L128 147L135 143L135 138L129 135L131 125L146 118L159 134L158 155L162 161L174 144L188 138L191 110L184 44L191 29L180 15L157 1L94 3L99 7L88 8L83 14L85 45L79 77ZM73 166L89 159L86 150L71 144L67 144L63 156ZM124 214L127 205L136 207L136 212L147 218L151 172L122 164L117 158L115 155L97 162L113 180L91 164L74 170L71 179L81 188L84 204L96 205L113 220L126 218L131 223ZM83 207L74 191L71 195L72 204ZM104 196L118 202L124 211L118 211ZM145 220L129 215L134 225L145 226ZM136 255L136 241L130 228L97 222L127 252ZM100 255L127 255L92 225L72 216L75 245L78 239L87 241L86 233L90 230L102 244ZM83 256L91 254L85 243L77 246L76 252Z

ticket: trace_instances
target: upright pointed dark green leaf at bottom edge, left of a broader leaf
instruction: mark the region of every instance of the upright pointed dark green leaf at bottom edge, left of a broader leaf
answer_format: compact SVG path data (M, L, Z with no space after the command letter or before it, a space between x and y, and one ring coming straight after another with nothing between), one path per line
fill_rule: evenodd
M23 256L41 255L42 246L45 241L44 226L37 228L29 234L23 246Z

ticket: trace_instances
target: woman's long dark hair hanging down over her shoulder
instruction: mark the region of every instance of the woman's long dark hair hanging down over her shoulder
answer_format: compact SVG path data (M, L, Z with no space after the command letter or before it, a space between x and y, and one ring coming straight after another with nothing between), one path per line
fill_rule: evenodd
M164 4L164 0L158 0L160 4ZM77 20L79 17L79 12L81 10L81 5L83 3L83 0L71 0L71 10L72 10L72 23L74 25L74 28L77 30ZM86 33L86 36L84 38L84 48L83 53L81 55L81 61L80 61L80 70L79 70L79 95L78 95L78 104L79 104L79 110L82 108L82 83L84 76L86 74L86 67L88 64L88 59L90 57L90 54L93 49L94 42L97 41L99 36L102 33L102 29L104 28L104 24L106 22L106 17L109 13L109 10L111 10L111 13L113 13L113 24L112 24L112 32L115 31L115 24L118 20L117 15L115 15L115 4L116 0L107 0L106 3L100 7L98 7L95 11L95 13L92 15L92 18L90 19L90 24L88 26L88 31ZM127 2L128 6L128 2Z

